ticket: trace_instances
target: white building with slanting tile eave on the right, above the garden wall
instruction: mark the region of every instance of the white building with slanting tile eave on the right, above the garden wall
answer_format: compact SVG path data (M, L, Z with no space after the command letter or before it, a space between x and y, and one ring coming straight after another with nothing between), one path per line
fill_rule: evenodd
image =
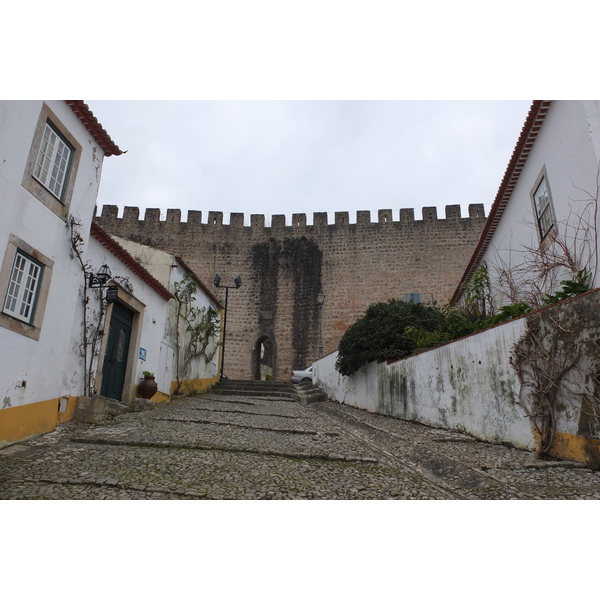
M486 266L498 306L598 285L599 165L600 101L533 102L461 283Z

